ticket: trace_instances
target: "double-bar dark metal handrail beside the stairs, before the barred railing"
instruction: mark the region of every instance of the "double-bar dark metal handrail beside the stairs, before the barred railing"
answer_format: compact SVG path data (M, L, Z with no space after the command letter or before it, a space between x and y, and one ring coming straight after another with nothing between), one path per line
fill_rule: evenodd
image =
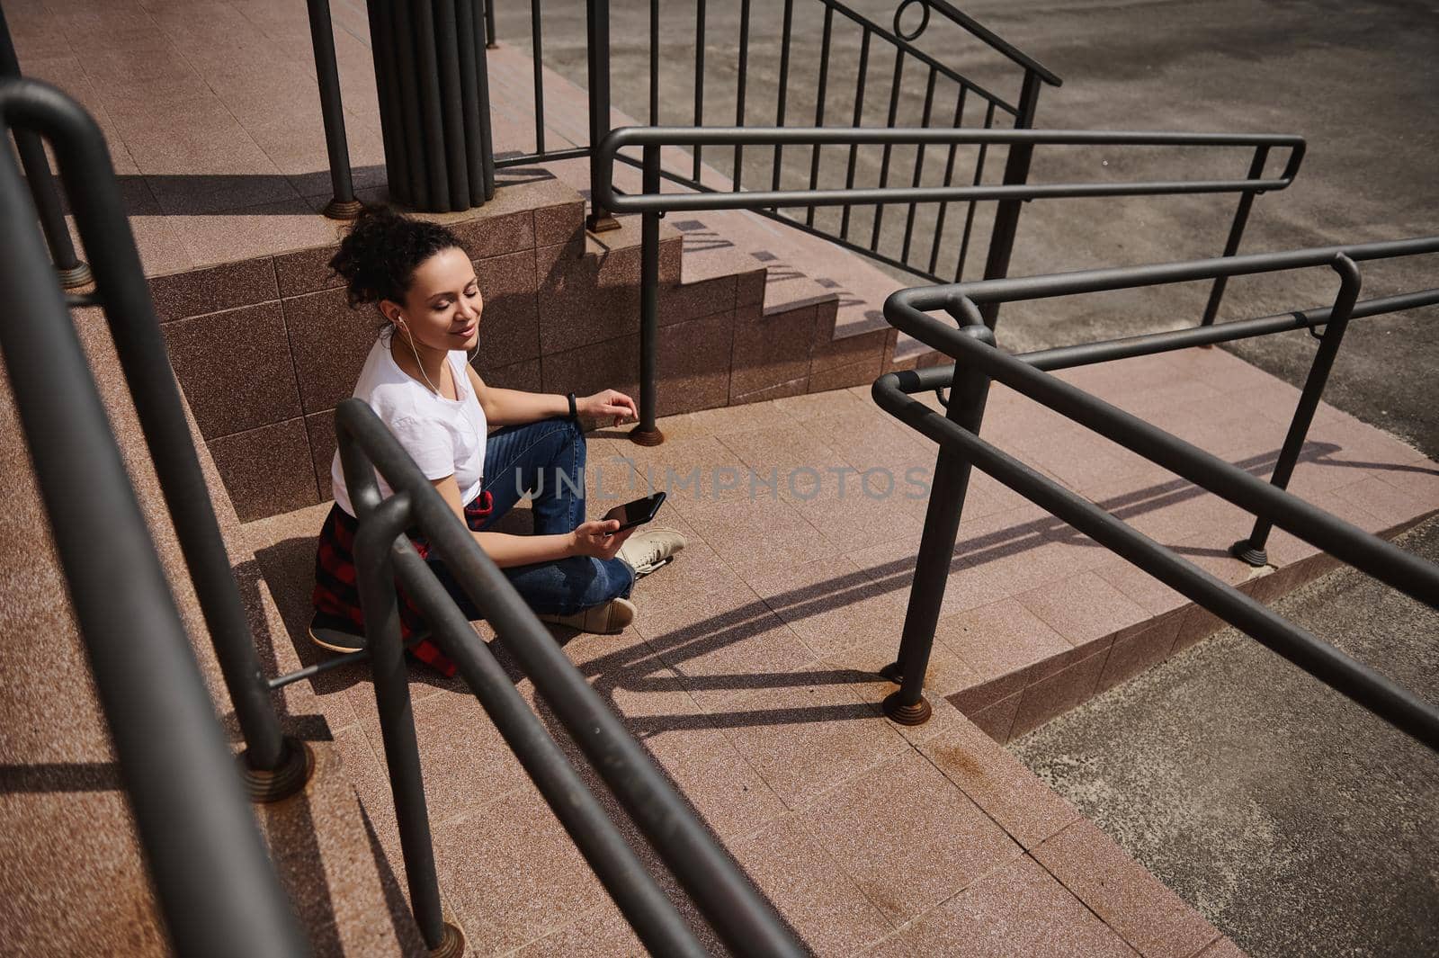
M661 178L663 171L659 165L661 147L685 145L695 142L707 144L807 144L817 148L822 144L884 144L886 148L894 144L1006 144L1012 147L1010 161L1022 168L1012 171L1006 168L1006 186L997 187L881 187L873 190L768 190L748 191L732 190L730 193L662 193ZM1243 147L1255 150L1255 163L1250 164L1250 177L1245 180L1199 180L1199 181L1164 181L1164 183L1081 183L1081 184L1029 184L1027 165L1029 151L1038 145L1121 145L1121 147L1196 147L1196 148L1230 148ZM626 147L640 147L643 150L642 168L643 180L640 191L636 194L620 194L614 188L614 161L629 160L620 154ZM1263 160L1274 148L1289 151L1284 171L1275 178L1261 178ZM630 439L640 444L658 444L663 442L663 434L655 426L656 397L655 375L658 365L659 338L659 217L669 210L750 210L764 214L777 207L817 207L853 204L873 204L884 207L888 204L914 204L921 201L948 201L967 199L997 200L996 211L996 242L990 249L990 260L986 265L986 278L1003 278L1009 269L1009 249L1013 245L1013 230L1023 201L1035 199L1065 199L1065 197L1094 197L1094 196L1181 196L1189 193L1239 193L1243 200L1252 200L1255 194L1266 190L1284 190L1294 177L1298 175L1304 163L1305 141L1302 137L1289 134L1193 134L1193 132L1141 132L1141 131L1092 131L1092 129L866 129L866 128L745 128L745 127L622 127L612 129L600 142L594 154L594 163L600 167L600 178L596 181L596 197L602 207L614 211L630 211L642 214L640 224L640 421L630 432ZM1248 217L1248 204L1240 206L1240 211ZM778 217L781 222L806 229L803 224L789 217ZM1242 219L1236 219L1242 232ZM1003 230L1000 229L1003 224ZM845 243L833 236L809 230L846 249L855 249L882 262L917 272L894 259L876 255L872 249L863 250ZM1000 236L1003 233L1003 236ZM1230 256L1238 247L1235 233L1230 233L1230 243L1226 245L1225 255ZM1225 275L1216 279L1210 305L1217 308L1217 295L1222 295ZM996 322L999 302L986 301L983 306L986 322ZM1212 311L1206 309L1203 322L1212 319Z

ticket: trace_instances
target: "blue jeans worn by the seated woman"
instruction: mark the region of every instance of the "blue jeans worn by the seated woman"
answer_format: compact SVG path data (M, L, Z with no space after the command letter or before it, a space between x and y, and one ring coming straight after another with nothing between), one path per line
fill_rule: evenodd
M535 535L573 532L584 522L584 433L567 419L543 419L495 430L485 440L482 492L489 492L495 509L481 531L531 493ZM460 610L469 619L479 619L443 562L435 560L430 567ZM627 598L635 587L635 570L619 557L571 555L501 571L540 614L568 616L612 598Z

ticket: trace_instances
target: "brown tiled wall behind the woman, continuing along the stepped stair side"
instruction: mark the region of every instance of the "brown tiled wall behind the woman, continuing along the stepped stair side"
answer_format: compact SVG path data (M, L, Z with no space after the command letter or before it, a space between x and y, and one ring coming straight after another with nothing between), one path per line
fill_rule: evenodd
M637 396L637 220L587 237L577 194L517 204L449 223L485 298L476 368L492 386ZM679 285L679 243L668 233L661 246L661 416L878 375L884 332L832 344L833 302L764 315L761 266ZM334 409L381 325L373 306L345 305L327 266L334 250L150 280L176 375L242 521L330 498Z

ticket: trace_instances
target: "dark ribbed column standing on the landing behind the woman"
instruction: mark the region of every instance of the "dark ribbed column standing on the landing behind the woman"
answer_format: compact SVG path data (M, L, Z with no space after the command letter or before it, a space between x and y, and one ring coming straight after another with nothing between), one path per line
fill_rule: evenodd
M390 199L426 213L494 194L479 0L368 0Z

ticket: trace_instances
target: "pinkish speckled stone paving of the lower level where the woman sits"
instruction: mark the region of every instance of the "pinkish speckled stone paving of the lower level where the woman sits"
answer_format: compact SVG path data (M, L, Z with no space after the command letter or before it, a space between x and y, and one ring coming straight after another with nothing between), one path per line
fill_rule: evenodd
M1066 378L1256 475L1272 466L1297 398L1207 350ZM1212 617L977 478L931 660L935 715L894 725L878 712L894 686L875 672L898 644L927 502L868 496L853 470L924 475L934 447L862 388L661 427L668 440L652 449L590 433L590 512L639 495L646 476L659 485L669 469L689 482L698 467L659 519L689 545L637 584L639 616L623 634L557 637L816 952L1235 954L996 741L1197 642ZM1275 567L1249 570L1225 552L1246 515L999 387L981 432L1261 598L1325 568L1276 535ZM804 466L822 480L790 488L787 470ZM761 480L751 499L747 476L771 467L778 483ZM842 467L852 470L843 491ZM1324 407L1294 488L1392 532L1439 508L1439 466ZM308 614L324 511L246 526L292 636ZM317 654L299 639L282 646L285 667ZM355 672L317 686L403 872L370 685ZM476 954L633 954L623 919L473 701L419 670L413 695L442 886ZM344 709L348 728L337 724Z

